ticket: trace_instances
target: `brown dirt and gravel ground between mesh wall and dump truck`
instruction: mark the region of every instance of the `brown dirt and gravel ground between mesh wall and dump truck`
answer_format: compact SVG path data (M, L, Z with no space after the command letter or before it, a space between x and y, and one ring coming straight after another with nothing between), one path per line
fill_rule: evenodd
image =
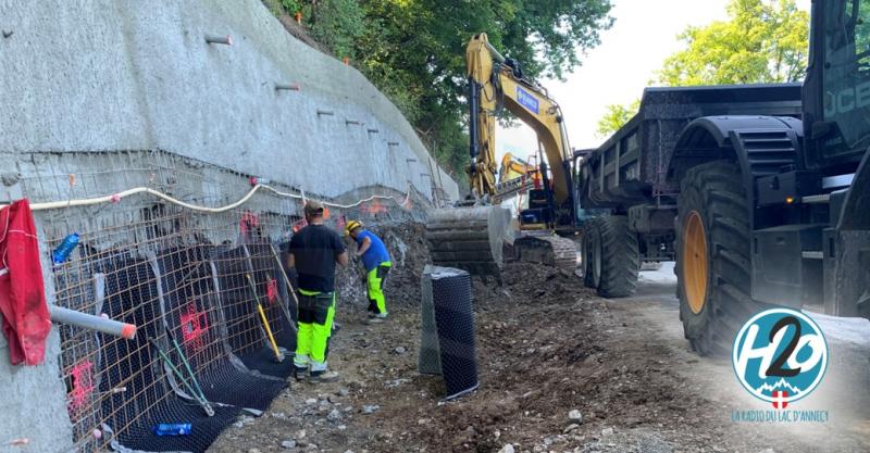
M343 272L343 327L331 347L341 379L293 382L265 415L240 419L210 451L870 451L866 411L813 427L732 423L735 407L765 407L736 393L728 361L686 350L671 307L643 295L599 299L575 276L525 263L507 266L504 287L474 281L481 388L444 403L440 379L417 373L422 231L380 231L397 262L388 323L363 323L361 274Z

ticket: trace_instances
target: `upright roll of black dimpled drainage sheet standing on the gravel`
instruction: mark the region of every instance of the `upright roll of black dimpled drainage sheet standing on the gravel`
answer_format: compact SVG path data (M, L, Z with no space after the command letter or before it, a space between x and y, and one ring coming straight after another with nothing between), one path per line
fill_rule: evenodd
M440 375L445 400L472 392L477 381L471 276L451 267L426 266L421 279L421 374Z

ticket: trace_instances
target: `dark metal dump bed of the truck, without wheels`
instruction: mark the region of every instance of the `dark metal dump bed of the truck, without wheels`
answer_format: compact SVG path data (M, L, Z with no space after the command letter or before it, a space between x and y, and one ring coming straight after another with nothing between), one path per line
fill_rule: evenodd
M800 84L646 88L638 113L589 154L582 167L583 207L673 204L666 183L683 128L703 116L800 116Z

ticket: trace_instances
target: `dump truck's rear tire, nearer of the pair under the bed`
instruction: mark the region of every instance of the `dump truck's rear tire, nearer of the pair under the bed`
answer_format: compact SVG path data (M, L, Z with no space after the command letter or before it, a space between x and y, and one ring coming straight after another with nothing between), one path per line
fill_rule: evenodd
M634 294L641 269L637 234L629 228L629 218L624 215L601 217L598 230L601 243L598 295L625 298Z

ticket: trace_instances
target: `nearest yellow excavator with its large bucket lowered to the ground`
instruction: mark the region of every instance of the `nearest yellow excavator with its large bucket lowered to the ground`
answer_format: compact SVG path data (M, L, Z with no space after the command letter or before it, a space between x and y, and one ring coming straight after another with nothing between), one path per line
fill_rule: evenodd
M433 262L475 275L500 277L507 242L512 244L514 259L543 262L573 273L574 242L559 236L573 236L576 231L573 153L559 105L542 86L523 76L517 61L504 58L486 34L471 38L465 64L471 139L467 172L471 200L430 212L426 239ZM537 135L539 165L534 172L540 177L540 188L530 186L534 178L529 177L527 165L518 165L523 173L519 177L506 178L505 168L502 177L496 177L496 119L502 109ZM529 192L529 207L521 211L517 231L509 211L498 203L522 191Z

